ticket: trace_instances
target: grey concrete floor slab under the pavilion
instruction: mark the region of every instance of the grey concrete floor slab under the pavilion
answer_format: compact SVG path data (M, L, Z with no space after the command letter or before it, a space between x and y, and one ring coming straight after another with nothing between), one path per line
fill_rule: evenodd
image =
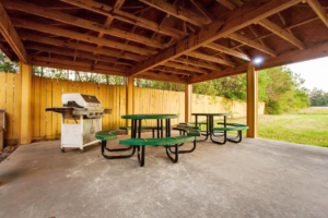
M84 154L59 145L21 146L0 165L1 218L328 217L324 147L207 142L178 164L151 147L140 168L137 157L104 159L98 145Z

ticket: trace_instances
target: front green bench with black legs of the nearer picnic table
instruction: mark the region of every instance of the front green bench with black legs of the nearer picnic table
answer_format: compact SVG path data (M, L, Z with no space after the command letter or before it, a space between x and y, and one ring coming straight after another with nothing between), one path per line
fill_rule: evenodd
M145 146L159 146L163 145L166 147L166 155L167 157L173 161L178 161L178 145L192 142L195 141L192 136L174 136L174 137L159 137L159 138L128 138L128 140L121 140L119 141L120 145L130 145L133 146L133 150L138 150L138 160L141 167L144 166L144 153L145 153ZM174 150L172 150L172 145L175 147ZM174 154L174 157L172 157L169 154Z

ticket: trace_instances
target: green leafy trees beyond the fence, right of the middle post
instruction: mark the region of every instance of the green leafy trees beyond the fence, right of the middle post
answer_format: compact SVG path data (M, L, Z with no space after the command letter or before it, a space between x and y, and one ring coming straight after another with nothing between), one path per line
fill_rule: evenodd
M284 66L260 71L258 74L258 98L266 102L266 113L281 114L307 108L311 105L308 90L303 87L304 80ZM137 86L184 90L184 85L137 80ZM218 78L192 86L192 93L222 96L233 100L247 99L246 74ZM327 96L327 95L326 95Z

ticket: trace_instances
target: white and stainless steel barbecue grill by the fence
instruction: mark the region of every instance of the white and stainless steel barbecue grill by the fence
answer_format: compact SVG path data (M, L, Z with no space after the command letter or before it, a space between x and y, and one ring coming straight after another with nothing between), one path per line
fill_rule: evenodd
M96 96L79 93L63 94L62 107L46 108L46 111L61 113L61 152L66 147L80 148L99 142L94 133L102 131L102 118L112 112L103 109Z

